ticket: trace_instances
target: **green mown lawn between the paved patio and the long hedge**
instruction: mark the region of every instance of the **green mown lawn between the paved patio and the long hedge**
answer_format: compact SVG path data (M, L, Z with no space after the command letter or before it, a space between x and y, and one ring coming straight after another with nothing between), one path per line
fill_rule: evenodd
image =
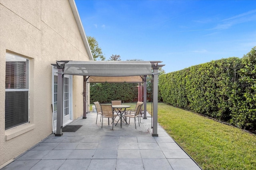
M256 135L164 103L158 123L205 170L256 169Z

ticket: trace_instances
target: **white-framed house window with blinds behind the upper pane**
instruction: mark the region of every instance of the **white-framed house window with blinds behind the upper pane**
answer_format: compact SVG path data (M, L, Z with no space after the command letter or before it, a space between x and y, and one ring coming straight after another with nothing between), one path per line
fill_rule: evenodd
M28 59L6 53L5 129L28 122Z

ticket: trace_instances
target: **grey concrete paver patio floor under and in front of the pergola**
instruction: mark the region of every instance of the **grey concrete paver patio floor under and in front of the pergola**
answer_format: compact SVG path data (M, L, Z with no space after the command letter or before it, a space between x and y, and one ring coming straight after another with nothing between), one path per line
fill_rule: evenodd
M2 170L200 170L201 168L158 125L152 137L151 117L141 119L140 127L96 124L96 113L87 114L70 125L82 125L76 132L46 139L18 156Z

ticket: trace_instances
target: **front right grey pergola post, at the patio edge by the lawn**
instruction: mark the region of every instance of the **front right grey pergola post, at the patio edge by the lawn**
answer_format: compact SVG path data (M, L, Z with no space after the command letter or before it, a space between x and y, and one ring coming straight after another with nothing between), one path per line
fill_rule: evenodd
M158 137L157 134L157 109L158 109L158 67L153 68L153 137Z

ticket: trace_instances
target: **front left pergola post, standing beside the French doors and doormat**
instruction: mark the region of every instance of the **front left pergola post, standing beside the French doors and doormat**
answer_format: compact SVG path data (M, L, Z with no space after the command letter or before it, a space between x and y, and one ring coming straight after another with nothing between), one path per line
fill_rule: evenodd
M63 85L64 85L64 74L63 66L57 66L58 68L58 89L57 89L57 124L55 136L62 136L63 126Z

